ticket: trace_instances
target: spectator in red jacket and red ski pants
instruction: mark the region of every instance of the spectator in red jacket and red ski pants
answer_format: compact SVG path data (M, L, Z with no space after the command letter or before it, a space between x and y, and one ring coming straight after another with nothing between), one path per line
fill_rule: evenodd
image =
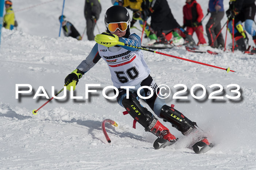
M187 32L191 35L196 32L198 44L206 44L201 23L203 16L202 8L196 0L186 0L186 5L183 7L183 27L187 27Z

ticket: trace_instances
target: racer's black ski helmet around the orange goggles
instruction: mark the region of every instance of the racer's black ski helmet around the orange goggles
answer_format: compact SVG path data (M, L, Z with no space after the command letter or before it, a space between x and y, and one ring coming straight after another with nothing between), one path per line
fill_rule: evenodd
M130 15L129 12L127 11L126 8L115 5L110 7L106 13L105 13L105 27L106 27L106 32L111 33L108 29L108 24L109 23L117 23L117 22L127 22L127 29L125 33L125 38L128 38L130 35Z

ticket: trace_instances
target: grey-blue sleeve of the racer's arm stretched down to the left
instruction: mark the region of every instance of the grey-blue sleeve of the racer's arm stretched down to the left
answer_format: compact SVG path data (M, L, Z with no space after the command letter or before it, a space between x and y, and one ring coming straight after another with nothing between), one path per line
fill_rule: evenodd
M101 59L98 52L98 44L96 43L91 50L90 54L83 60L76 68L86 73Z

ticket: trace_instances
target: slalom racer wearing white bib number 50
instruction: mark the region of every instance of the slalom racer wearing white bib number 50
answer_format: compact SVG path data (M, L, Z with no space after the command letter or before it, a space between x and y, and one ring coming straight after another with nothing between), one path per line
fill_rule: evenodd
M97 35L98 39L104 41L104 39L111 37L117 41L140 47L140 37L135 33L130 33L130 16L126 8L118 5L110 7L105 13L105 27L106 32ZM170 122L183 135L188 135L196 130L194 122L174 109L174 106L167 106L164 99L157 96L159 88L157 89L157 84L150 76L150 70L143 59L143 53L136 48L117 45L105 47L96 43L87 58L65 78L65 85L69 86L73 80L76 80L76 83L78 83L78 80L101 58L109 66L113 86L118 88L118 104L124 107L132 118L139 122L146 131L169 142L177 141L177 138L170 133L169 129L163 126L146 107L139 103L137 90L142 86L153 87L153 96L143 100L159 118ZM121 86L134 86L134 88L129 89L127 96L127 90L120 88ZM140 95L144 97L150 96L151 91L148 88L143 88L140 91Z

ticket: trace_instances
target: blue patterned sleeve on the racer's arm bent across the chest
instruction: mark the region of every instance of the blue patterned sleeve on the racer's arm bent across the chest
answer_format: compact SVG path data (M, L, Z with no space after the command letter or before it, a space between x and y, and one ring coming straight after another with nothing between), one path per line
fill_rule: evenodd
M129 35L128 38L120 37L119 41L128 45L136 46L136 47L141 46L140 37L136 33L132 33L131 35ZM138 49L132 48L132 47L127 47L127 46L120 46L120 47L123 47L124 49L129 51L139 51Z

